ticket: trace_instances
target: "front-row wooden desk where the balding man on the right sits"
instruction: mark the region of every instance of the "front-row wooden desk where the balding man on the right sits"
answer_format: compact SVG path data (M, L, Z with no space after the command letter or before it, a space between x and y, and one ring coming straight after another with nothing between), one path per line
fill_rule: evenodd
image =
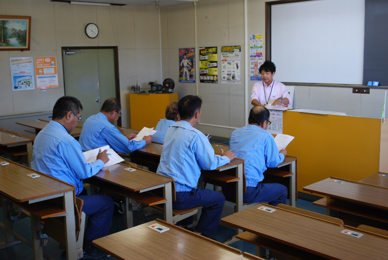
M210 143L211 146L213 146L214 152L216 154L221 154L221 149L224 150L224 152L229 151L228 145L220 145L216 143ZM284 161L277 165L276 168L269 168L267 171L265 171L263 174L265 176L264 182L276 182L284 184L288 188L288 196L290 199L290 205L292 207L295 207L295 201L297 199L297 158L293 156L286 156ZM280 169L286 172L292 173L292 175L287 176L287 178L278 177L274 173L275 169Z

